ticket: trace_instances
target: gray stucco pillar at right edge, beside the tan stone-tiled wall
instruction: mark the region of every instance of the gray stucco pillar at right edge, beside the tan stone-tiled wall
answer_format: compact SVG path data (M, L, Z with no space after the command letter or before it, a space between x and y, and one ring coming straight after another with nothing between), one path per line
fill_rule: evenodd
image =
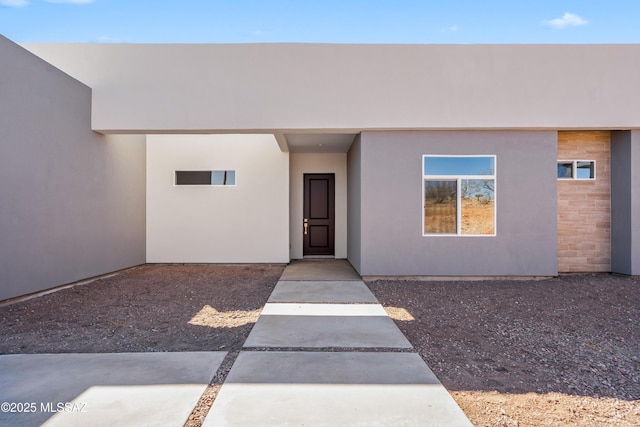
M640 131L611 133L611 271L640 274Z

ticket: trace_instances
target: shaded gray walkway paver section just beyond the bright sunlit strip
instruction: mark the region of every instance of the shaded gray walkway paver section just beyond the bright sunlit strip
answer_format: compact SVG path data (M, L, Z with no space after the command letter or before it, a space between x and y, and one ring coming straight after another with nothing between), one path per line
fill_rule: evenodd
M281 280L268 302L377 304L378 300L367 285L360 281Z

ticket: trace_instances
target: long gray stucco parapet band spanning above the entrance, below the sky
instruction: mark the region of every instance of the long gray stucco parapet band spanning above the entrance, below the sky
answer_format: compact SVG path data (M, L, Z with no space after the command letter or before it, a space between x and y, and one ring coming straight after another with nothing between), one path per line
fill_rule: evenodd
M25 46L104 132L640 126L640 45Z

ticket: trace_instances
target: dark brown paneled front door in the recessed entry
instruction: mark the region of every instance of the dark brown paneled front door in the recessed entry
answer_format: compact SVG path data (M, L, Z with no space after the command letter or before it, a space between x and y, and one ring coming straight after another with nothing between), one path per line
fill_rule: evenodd
M304 255L333 255L334 174L304 174Z

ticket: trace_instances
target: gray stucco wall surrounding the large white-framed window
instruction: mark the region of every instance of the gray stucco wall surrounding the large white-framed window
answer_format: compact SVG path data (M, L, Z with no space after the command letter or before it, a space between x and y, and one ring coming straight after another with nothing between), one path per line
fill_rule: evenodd
M556 132L363 132L360 150L362 275L557 274ZM497 156L496 236L422 235L423 154Z

